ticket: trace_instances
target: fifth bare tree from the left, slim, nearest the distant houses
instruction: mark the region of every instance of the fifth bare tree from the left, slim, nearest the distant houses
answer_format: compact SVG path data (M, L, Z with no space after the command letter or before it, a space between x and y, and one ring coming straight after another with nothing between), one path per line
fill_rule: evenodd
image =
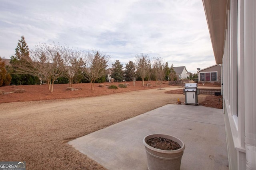
M158 57L153 58L153 63L152 63L152 74L156 80L156 86L158 84L158 80L162 81L164 76L164 63L163 59Z

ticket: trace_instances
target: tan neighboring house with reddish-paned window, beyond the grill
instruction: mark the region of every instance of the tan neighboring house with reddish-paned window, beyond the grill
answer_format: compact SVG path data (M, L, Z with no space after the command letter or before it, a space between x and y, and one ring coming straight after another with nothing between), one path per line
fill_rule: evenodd
M198 82L221 82L221 66L215 64L198 71Z

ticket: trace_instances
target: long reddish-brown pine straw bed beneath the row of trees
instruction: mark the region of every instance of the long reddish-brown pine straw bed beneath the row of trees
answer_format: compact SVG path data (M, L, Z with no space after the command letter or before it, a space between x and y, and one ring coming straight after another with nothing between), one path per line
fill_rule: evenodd
M109 89L111 85L119 86L120 84L128 84L127 88ZM48 84L43 85L19 85L19 86L4 86L0 87L0 103L10 102L28 102L40 100L56 100L56 99L69 99L69 98L84 98L93 96L103 96L107 94L116 94L123 92L131 92L136 90L146 90L151 88L164 88L168 87L168 82L164 81L156 86L155 81L145 81L142 86L142 81L136 81L135 86L133 82L104 82L95 83L94 90L91 90L90 83L73 84L73 88L78 90L67 90L69 84L54 84L53 93L48 90ZM14 93L17 89L24 89L22 95ZM6 92L6 94L3 93Z

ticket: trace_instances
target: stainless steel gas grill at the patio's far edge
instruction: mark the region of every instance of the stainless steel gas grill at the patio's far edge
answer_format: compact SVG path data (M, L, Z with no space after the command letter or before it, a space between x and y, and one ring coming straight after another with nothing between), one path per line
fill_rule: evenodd
M183 94L185 94L185 104L198 105L197 96L199 95L199 90L197 88L197 83L186 83L183 89Z

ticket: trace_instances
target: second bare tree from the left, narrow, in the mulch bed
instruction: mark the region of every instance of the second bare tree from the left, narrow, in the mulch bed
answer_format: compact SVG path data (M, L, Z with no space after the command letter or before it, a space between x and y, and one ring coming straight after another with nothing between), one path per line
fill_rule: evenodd
M69 86L73 86L73 78L80 74L80 69L84 66L82 59L82 53L73 49L66 48L64 50L64 56L67 59L66 69L64 76L69 80Z

